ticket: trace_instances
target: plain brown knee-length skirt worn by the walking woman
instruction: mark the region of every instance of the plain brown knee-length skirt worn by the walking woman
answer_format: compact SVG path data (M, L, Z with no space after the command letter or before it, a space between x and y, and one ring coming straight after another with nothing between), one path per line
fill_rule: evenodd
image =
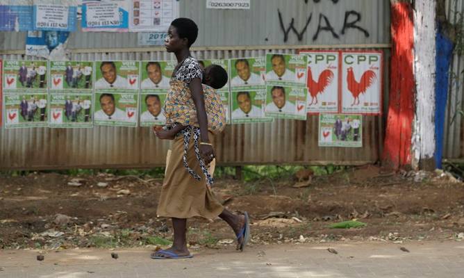
M211 138L211 134L210 134ZM171 157L167 165L163 188L156 214L169 218L202 218L214 219L224 211L211 190L195 156L193 136L188 145L188 165L199 174L200 181L194 179L183 165L183 136L178 136L172 144Z

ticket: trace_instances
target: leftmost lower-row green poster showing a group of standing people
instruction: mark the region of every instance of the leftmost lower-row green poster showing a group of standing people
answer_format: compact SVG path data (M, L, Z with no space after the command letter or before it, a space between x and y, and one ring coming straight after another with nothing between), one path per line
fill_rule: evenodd
M6 129L48 126L47 92L28 91L3 95Z

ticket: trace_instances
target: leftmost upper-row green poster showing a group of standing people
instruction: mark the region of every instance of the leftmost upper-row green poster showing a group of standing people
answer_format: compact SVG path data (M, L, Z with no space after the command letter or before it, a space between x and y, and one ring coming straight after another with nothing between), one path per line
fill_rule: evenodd
M47 90L45 60L3 60L3 92Z

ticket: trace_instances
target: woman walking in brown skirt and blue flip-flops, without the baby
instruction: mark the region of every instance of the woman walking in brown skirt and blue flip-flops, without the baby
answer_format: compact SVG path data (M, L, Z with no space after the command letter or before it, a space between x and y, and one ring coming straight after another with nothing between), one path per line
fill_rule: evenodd
M174 140L157 215L172 218L174 242L169 249L151 254L153 259L192 257L185 233L187 218L195 216L207 219L219 216L226 221L237 236L238 250L243 250L249 238L247 213L235 215L227 211L210 191L212 179L206 172L206 165L213 161L215 154L210 143L212 133L208 131L208 124L213 123L208 123L206 111L211 107L208 107L209 101L205 102L201 85L204 73L198 61L190 56L190 46L197 35L197 24L188 18L178 18L169 26L165 40L166 50L175 54L178 65L165 101L168 128L156 129L158 138ZM192 104L193 113L186 108L188 104ZM204 175L196 174L201 172Z

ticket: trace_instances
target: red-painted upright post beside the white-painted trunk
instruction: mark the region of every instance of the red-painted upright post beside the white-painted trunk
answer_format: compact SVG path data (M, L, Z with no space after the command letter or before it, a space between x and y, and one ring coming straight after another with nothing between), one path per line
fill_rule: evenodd
M391 7L392 57L390 103L383 161L398 168L411 163L411 136L414 117L413 45L414 23L411 3Z

